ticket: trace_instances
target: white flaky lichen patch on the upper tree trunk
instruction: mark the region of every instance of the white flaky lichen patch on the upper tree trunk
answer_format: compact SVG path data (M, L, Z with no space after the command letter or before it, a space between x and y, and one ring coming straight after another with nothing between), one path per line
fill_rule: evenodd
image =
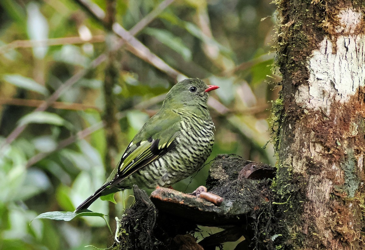
M349 101L365 85L365 36L354 34L361 17L361 12L351 8L341 10L338 32L344 35L335 41L325 36L319 48L312 51L308 83L300 85L295 94L300 106L328 115L333 102Z

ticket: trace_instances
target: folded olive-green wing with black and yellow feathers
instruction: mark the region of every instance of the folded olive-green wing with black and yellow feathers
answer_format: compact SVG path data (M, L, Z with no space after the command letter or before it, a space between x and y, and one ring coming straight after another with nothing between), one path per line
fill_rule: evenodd
M181 117L172 110L161 110L151 117L128 145L106 183L113 187L175 148L180 121Z

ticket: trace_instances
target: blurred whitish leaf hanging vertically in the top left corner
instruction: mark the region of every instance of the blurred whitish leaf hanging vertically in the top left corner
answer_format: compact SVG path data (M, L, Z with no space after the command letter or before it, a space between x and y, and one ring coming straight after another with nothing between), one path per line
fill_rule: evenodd
M43 59L47 54L48 46L39 46L39 42L45 42L48 39L49 27L47 20L34 2L28 4L27 15L27 33L32 40L33 55L38 59Z

